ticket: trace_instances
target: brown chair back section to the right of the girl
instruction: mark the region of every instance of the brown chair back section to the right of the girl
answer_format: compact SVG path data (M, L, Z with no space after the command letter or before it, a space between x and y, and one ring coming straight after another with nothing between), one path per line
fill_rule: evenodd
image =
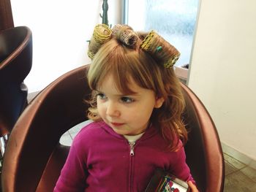
M186 100L184 123L189 131L185 145L187 164L200 191L223 191L225 163L217 128L195 93L186 85L181 86Z

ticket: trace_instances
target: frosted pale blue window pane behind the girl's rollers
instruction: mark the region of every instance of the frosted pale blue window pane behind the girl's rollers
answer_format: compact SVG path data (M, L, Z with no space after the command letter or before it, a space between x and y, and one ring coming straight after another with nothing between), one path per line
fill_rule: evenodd
M128 25L154 29L180 52L176 66L189 64L199 0L129 0Z

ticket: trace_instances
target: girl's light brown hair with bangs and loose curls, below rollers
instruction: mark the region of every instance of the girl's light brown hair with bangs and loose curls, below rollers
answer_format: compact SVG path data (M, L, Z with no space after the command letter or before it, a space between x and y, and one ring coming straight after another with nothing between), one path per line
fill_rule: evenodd
M113 74L116 87L124 94L133 93L129 88L129 78L132 77L141 88L150 89L156 96L165 99L162 107L154 109L151 121L155 127L160 128L162 137L170 141L170 150L176 150L178 139L187 142L187 130L181 118L185 104L180 82L173 68L167 69L157 63L140 48L140 44L141 40L138 38L133 47L127 47L113 37L94 55L87 74L92 90L88 116L90 119L100 120L95 90L105 77Z

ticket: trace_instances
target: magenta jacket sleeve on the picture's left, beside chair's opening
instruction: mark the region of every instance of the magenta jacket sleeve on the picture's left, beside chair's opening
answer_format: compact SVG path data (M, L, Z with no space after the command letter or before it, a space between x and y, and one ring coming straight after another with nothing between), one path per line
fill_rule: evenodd
M54 192L84 191L86 187L87 169L85 155L80 148L79 140L75 138L70 147L67 161L61 170L61 175L56 183Z

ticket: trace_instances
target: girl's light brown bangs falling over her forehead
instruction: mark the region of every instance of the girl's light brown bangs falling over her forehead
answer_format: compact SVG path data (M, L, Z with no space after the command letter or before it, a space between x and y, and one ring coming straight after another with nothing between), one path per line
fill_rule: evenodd
M124 94L134 91L129 88L131 80L140 87L156 91L150 69L146 68L147 58L141 58L138 47L125 47L116 39L111 39L99 50L89 69L88 80L92 90L97 90L105 78L111 74L116 81L116 88ZM103 56L104 55L104 56ZM146 57L146 55L144 54ZM148 61L151 63L152 61Z

